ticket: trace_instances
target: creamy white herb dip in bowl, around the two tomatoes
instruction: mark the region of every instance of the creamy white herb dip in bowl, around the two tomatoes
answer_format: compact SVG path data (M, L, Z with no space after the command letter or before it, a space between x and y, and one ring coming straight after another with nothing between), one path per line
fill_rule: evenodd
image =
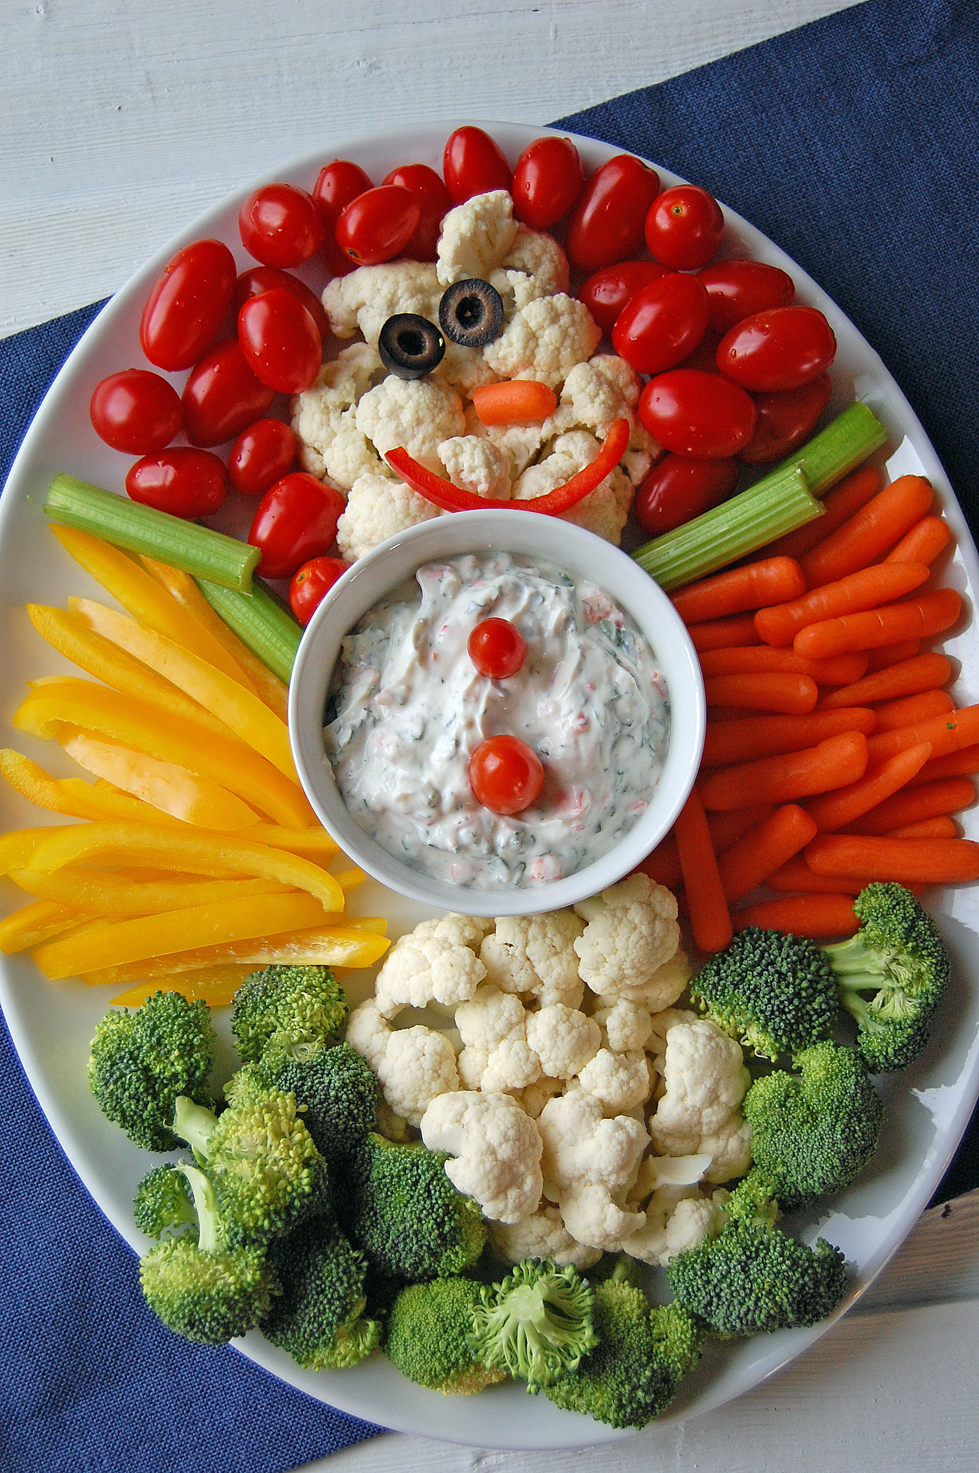
M478 675L467 639L509 619L527 657ZM508 552L427 563L343 639L324 742L361 828L436 879L508 890L605 854L660 782L670 731L649 642L583 577ZM526 741L545 767L534 807L484 809L467 769L487 736Z

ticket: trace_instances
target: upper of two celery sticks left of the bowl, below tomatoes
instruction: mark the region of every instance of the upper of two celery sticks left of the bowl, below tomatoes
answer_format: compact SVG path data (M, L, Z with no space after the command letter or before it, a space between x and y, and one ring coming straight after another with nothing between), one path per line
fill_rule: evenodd
M224 532L212 532L197 521L116 496L74 476L54 477L47 489L44 511L52 521L91 532L116 548L144 552L183 573L206 577L240 594L250 591L252 569L262 555L259 548L227 538Z

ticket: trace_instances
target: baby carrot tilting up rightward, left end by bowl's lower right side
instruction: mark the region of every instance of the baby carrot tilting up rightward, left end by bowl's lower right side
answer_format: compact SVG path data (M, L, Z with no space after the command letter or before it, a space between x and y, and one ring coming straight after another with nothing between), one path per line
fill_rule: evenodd
M707 809L746 809L751 803L794 803L863 778L867 738L861 732L829 736L804 751L720 767L701 788Z

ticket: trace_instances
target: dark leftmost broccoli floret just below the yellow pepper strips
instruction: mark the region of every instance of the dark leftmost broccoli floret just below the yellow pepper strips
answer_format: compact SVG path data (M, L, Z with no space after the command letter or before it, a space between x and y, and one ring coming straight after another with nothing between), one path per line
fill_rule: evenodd
M216 1038L203 1002L155 993L132 1012L107 1012L88 1053L88 1084L103 1115L143 1150L177 1150L178 1094L209 1102Z

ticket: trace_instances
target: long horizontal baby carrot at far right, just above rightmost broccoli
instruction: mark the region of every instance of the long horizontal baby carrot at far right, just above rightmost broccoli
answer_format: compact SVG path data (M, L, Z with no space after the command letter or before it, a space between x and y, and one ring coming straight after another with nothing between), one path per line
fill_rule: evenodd
M805 850L817 875L954 885L979 879L979 844L967 838L867 838L819 834Z

